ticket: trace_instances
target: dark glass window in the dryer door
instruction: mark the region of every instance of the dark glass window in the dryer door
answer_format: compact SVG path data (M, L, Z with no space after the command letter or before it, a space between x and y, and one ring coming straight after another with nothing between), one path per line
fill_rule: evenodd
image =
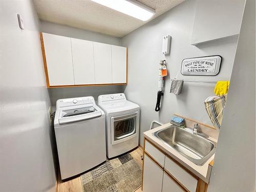
M136 116L114 121L114 140L123 139L136 133Z

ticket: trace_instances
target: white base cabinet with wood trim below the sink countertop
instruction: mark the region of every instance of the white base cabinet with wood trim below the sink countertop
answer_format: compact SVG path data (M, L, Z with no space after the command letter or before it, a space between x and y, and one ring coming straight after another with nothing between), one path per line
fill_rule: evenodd
M206 192L207 183L144 140L143 192Z

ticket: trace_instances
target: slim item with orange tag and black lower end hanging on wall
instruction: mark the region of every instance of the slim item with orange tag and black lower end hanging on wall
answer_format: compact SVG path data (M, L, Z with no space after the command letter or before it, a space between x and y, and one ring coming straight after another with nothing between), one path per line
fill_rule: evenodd
M155 111L160 111L160 103L161 97L163 96L162 88L164 86L164 77L167 76L167 67L166 67L166 60L160 60L160 67L159 67L159 79L158 79L158 87L160 90L157 92L157 103Z

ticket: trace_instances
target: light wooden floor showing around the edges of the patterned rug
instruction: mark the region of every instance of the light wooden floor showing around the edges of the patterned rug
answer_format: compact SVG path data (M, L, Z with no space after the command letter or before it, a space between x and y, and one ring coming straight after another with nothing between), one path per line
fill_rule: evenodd
M142 160L141 160L141 156L143 155L142 147L137 147L134 151L130 152L130 154L142 167ZM135 192L141 192L141 191L142 190L140 187ZM61 181L60 174L59 174L56 192L83 192L80 176L77 176L74 179L63 182Z

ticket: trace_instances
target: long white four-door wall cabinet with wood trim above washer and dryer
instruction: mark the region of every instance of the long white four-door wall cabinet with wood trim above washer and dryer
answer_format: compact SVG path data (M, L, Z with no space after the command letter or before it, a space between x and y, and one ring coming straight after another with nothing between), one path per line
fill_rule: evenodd
M48 88L126 84L126 48L40 33Z

